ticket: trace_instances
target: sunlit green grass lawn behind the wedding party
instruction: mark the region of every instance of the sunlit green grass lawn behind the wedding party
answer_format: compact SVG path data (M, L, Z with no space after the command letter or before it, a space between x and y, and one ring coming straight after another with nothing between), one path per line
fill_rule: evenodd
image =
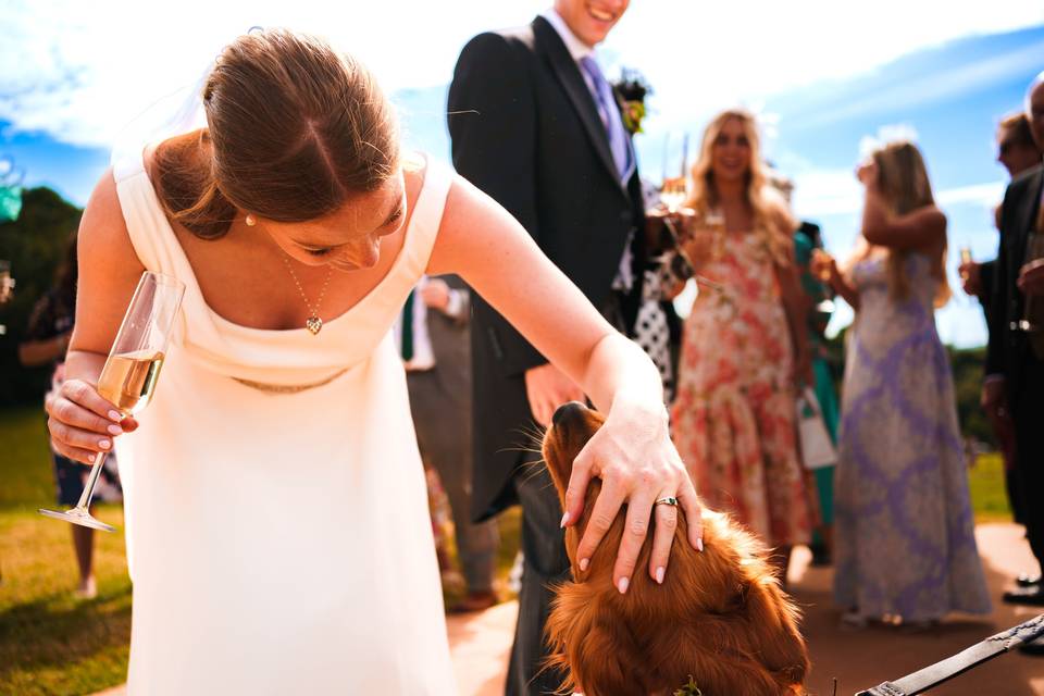
M74 599L69 526L36 513L53 505L52 476L39 409L0 410L0 694L91 694L126 679L130 581L123 534L96 533L98 598ZM1010 521L999 456L980 457L970 483L977 522ZM99 506L98 517L122 527L119 506ZM502 594L520 525L517 508L500 517ZM459 596L459 588L447 588L447 602Z

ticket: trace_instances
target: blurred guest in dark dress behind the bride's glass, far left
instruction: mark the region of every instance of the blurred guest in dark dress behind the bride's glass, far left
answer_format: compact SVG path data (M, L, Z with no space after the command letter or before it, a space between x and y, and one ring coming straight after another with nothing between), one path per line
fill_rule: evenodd
M73 333L73 318L76 312L76 233L70 235L65 258L58 268L54 285L36 302L29 316L25 340L18 345L18 360L27 368L52 365L51 388L57 388L64 380L65 351ZM45 428L41 437L47 436ZM51 449L54 463L54 483L58 504L73 507L84 492L88 468L71 461ZM111 462L111 463L110 463ZM115 455L107 457L102 477L95 488L95 500L119 500L120 480L116 473ZM95 531L90 527L71 524L73 549L79 568L79 584L75 594L82 599L91 599L98 594L94 574Z

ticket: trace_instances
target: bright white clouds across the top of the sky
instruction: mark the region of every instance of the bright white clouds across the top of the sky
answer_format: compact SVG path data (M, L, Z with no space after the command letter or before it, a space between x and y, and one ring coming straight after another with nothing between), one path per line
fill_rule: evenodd
M109 145L148 104L195 84L221 47L252 25L324 34L366 61L388 91L445 84L469 37L526 22L549 3L14 0L0 45L0 119ZM826 0L738 8L636 0L604 53L642 69L657 90L650 126L671 129L712 108L756 105L765 95L863 73L917 48L1044 22L1039 0L881 0L858 18L850 12Z

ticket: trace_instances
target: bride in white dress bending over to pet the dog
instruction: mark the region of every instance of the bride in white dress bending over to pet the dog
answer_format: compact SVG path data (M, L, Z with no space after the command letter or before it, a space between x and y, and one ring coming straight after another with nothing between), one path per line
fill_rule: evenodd
M667 567L676 497L660 378L492 199L400 153L364 66L286 30L240 37L207 127L117 159L84 213L55 449L113 448L134 581L132 694L453 694L424 478L389 328L458 273L608 413L563 525L600 476L627 504L613 582ZM140 427L95 388L142 271L187 286ZM552 310L554 308L554 310ZM655 514L649 568L635 559ZM689 526L694 546L699 525ZM605 529L593 523L585 543ZM670 572L668 570L668 572Z

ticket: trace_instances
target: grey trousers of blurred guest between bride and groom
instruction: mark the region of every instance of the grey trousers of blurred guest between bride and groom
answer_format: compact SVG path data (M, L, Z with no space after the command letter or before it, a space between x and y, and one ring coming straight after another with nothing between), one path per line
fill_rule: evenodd
M490 592L499 535L494 520L471 522L471 413L465 407L453 408L434 371L408 372L407 385L421 457L438 473L452 509L468 589Z

